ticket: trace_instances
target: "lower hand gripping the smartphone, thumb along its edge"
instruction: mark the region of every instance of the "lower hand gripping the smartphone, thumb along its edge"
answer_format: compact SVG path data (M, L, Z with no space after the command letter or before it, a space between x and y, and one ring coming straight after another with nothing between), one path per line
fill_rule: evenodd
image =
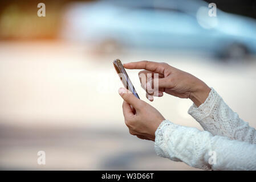
M135 97L127 89L120 88L118 92L124 99L124 121L129 128L129 133L140 139L155 141L157 127L165 118L154 107Z

